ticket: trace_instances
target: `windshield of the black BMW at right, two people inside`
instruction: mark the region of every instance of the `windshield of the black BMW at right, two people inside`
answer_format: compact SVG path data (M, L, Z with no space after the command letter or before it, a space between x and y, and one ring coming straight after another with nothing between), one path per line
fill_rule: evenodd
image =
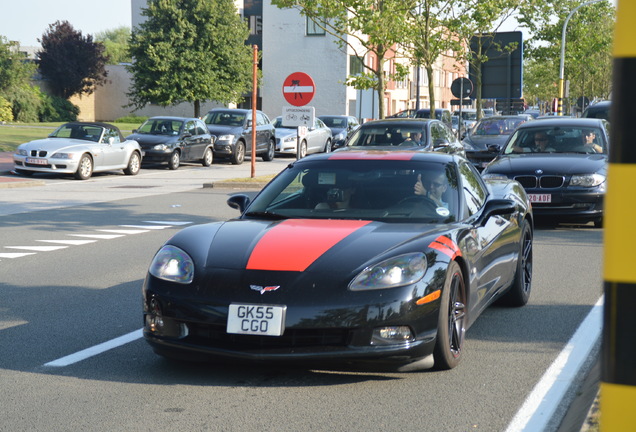
M541 120L550 123L552 120ZM600 128L583 126L532 127L517 130L504 154L511 153L603 153L608 144Z

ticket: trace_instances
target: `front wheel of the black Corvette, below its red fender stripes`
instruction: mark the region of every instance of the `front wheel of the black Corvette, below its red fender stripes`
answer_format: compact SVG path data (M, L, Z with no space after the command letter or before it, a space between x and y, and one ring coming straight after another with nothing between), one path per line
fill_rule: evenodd
M459 264L451 261L440 302L437 341L433 349L434 368L452 369L459 364L466 333L466 285Z

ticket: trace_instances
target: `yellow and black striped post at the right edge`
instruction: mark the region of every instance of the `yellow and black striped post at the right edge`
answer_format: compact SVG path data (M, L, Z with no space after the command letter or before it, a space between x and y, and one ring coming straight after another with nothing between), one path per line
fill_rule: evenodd
M619 0L605 197L601 431L636 431L636 1Z

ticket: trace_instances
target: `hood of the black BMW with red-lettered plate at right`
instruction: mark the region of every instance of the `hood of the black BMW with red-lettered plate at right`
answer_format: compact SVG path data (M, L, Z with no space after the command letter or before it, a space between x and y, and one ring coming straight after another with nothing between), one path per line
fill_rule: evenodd
M584 174L602 172L607 165L607 156L600 154L543 153L498 156L483 174L533 173L542 170L545 174Z

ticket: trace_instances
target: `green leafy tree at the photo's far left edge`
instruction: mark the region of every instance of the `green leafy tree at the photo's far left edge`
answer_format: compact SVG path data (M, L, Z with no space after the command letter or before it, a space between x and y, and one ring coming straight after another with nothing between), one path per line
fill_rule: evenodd
M17 50L15 42L8 42L0 36L0 97L10 106L11 119L28 122L38 120L41 104L40 92L31 84L36 65L26 61ZM5 106L6 108L6 106ZM3 119L9 117L3 111Z

